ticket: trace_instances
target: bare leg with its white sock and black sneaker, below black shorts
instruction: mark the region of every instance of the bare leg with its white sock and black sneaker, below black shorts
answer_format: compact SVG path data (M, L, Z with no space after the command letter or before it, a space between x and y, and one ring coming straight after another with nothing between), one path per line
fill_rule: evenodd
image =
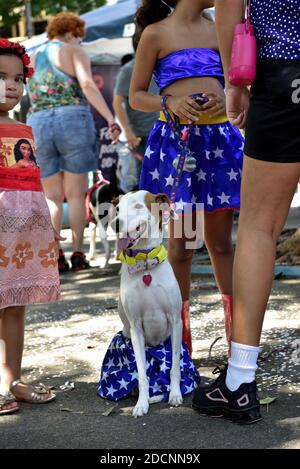
M227 372L198 388L193 405L205 412L234 412L240 423L261 419L255 372L264 314L274 277L276 240L286 221L300 163L245 157L241 210L233 268L233 341ZM220 396L222 399L220 399ZM221 402L222 401L222 402ZM239 415L240 413L240 415Z

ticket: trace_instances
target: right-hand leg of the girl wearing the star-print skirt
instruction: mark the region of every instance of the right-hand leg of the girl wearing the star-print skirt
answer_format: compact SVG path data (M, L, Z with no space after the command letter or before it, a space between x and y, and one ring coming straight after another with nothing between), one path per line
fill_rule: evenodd
M222 294L226 339L230 347L232 335L232 246L233 210L205 213L204 240L214 269L215 279ZM230 353L230 350L229 350Z

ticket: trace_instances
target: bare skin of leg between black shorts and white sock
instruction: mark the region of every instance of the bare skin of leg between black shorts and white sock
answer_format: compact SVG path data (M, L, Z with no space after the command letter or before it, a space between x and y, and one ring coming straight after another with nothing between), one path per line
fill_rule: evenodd
M257 346L274 277L276 240L286 221L300 163L245 157L233 272L233 340Z

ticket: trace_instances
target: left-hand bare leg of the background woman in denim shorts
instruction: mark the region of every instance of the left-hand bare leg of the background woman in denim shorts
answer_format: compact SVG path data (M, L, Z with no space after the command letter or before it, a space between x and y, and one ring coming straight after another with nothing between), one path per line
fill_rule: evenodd
M59 233L63 221L63 173L42 179L42 186L48 203L51 220L54 228Z

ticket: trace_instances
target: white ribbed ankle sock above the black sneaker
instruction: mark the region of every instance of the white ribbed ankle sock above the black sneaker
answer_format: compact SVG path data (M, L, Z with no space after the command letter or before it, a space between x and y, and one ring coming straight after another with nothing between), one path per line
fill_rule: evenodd
M236 391L242 383L252 383L255 380L259 349L231 341L231 356L226 375L226 386L230 391Z

